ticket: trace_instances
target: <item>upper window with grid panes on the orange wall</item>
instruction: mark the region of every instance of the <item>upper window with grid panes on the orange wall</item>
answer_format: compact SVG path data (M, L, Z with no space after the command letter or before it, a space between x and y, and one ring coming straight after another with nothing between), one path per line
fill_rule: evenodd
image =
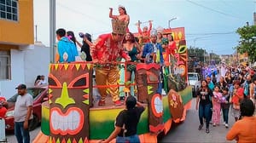
M0 0L0 19L18 20L18 0Z

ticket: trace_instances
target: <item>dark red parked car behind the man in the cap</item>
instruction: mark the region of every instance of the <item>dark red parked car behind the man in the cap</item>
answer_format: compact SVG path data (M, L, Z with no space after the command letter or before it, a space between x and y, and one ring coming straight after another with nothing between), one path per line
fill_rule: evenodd
M32 115L33 119L29 125L29 129L33 130L38 127L38 123L41 123L42 117L42 103L48 100L48 87L33 87L27 88L27 93L33 96L33 110ZM5 129L7 131L13 131L15 129L15 120L14 120L14 110L15 102L17 100L18 94L13 95L8 102L8 110L5 114Z

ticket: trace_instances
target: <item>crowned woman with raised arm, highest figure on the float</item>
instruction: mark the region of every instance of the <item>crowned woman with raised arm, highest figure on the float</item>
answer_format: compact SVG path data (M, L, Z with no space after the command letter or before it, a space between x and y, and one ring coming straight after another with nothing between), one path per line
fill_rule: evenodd
M113 8L109 8L109 18L112 18L113 20L121 20L125 21L126 23L126 32L129 32L128 25L130 23L130 16L127 14L126 9L124 6L119 5L119 15L113 15Z

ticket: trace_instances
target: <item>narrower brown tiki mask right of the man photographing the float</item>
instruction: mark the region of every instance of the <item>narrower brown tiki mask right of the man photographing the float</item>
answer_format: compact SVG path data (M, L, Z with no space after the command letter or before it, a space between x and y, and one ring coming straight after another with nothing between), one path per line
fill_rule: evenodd
M138 100L148 100L149 130L158 133L164 128L160 65L137 64L137 80Z

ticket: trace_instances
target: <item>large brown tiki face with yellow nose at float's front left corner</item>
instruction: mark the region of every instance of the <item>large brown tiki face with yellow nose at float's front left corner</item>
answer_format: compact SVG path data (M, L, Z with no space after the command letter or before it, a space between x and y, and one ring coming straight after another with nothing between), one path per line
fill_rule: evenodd
M49 129L51 142L89 140L92 66L49 66Z

